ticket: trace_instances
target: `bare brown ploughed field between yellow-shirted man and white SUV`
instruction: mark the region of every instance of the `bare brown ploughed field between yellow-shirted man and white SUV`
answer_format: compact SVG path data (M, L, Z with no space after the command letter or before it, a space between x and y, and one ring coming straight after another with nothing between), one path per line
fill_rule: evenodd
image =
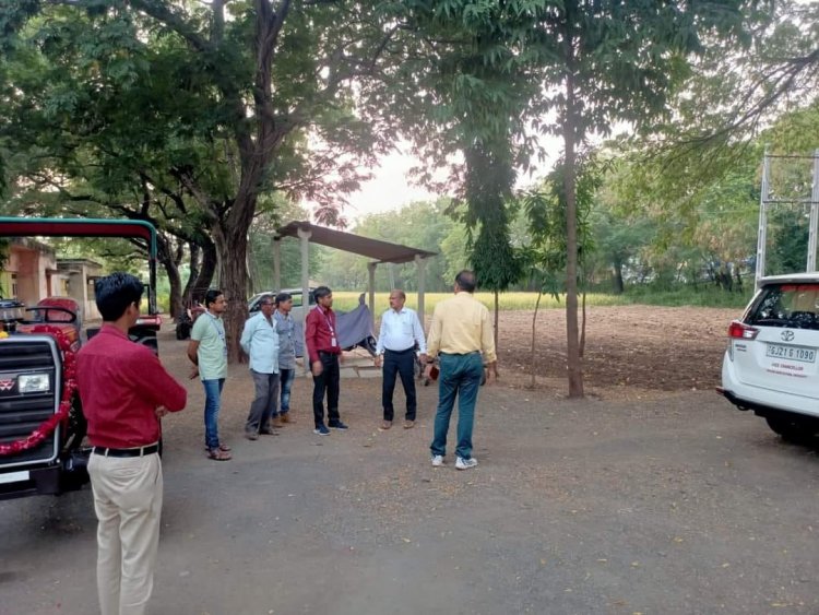
M719 383L728 323L738 317L735 309L589 308L583 359L586 389L604 399L637 390L712 389ZM511 386L527 386L534 370L542 386L561 390L566 387L565 311L538 312L534 360L532 320L531 311L501 314L502 376Z

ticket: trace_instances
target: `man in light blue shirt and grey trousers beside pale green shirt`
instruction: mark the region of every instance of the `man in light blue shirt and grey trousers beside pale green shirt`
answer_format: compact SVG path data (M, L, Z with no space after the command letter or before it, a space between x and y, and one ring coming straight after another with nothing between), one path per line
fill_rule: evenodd
M275 434L270 418L276 414L278 403L278 334L273 320L273 297L264 297L259 305L260 311L247 319L239 341L250 357L250 374L256 387L256 398L245 424L248 440L258 440L259 434Z

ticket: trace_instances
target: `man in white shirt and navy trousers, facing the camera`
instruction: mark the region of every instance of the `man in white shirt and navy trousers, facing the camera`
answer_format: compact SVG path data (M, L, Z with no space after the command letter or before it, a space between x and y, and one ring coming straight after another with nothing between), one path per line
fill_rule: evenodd
M395 375L401 375L401 383L406 395L404 429L415 425L415 347L420 351L420 362L427 360L427 343L424 329L415 310L404 307L406 294L400 288L390 293L390 309L381 316L381 331L376 345L376 367L383 363L381 405L384 409L382 429L392 427L394 409L392 393L395 390ZM383 362L381 360L383 355Z

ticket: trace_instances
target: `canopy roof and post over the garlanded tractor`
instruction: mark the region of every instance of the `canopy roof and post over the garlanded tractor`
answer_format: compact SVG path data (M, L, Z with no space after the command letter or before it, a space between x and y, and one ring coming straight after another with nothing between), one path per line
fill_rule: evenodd
M147 312L156 309L156 228L143 220L0 217L0 237L121 237L145 241L149 259Z

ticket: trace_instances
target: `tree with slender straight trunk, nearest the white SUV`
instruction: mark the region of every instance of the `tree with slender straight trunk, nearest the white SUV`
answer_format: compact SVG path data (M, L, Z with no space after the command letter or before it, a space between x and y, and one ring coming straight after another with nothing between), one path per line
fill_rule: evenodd
M687 59L743 33L744 3L570 0L542 15L547 95L538 106L563 142L569 395L583 395L578 330L577 157L591 134L617 122L648 130L687 76Z

